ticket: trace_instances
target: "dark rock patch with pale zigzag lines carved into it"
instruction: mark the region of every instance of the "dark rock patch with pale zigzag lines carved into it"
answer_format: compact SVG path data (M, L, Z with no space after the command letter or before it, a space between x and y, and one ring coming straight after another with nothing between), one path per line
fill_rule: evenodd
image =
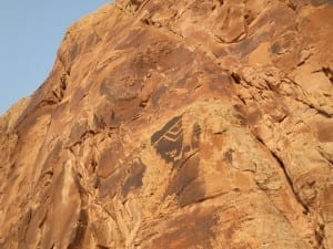
M183 144L182 116L173 117L163 128L155 132L151 136L151 144L167 163L176 162Z

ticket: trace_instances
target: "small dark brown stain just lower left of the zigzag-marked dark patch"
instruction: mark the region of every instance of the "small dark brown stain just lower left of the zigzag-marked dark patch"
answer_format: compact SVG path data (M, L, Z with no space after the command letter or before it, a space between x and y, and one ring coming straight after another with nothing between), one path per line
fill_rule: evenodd
M145 165L137 159L129 168L129 176L123 184L122 195L127 196L131 189L142 187L142 178L145 172Z

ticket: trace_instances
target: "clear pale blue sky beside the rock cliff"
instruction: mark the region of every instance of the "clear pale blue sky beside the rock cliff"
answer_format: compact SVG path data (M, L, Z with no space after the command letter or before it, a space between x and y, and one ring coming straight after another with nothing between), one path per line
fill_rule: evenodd
M0 114L48 76L65 29L111 0L0 0Z

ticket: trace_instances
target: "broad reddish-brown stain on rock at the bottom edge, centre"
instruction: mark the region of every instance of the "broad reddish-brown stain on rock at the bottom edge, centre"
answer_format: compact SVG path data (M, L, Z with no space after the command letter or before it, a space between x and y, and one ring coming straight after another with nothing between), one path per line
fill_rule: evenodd
M218 225L214 212L194 210L174 218L167 224L170 229L155 238L151 248L165 248L165 245L168 249L213 248L213 227Z

